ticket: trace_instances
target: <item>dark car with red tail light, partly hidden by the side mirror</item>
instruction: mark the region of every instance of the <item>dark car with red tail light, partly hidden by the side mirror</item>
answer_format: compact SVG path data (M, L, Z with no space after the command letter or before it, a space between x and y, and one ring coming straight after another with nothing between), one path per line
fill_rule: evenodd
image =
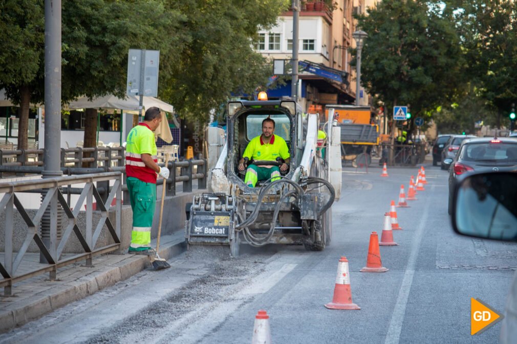
M466 172L517 170L517 139L512 137L477 137L465 139L449 168L449 214L458 176Z

